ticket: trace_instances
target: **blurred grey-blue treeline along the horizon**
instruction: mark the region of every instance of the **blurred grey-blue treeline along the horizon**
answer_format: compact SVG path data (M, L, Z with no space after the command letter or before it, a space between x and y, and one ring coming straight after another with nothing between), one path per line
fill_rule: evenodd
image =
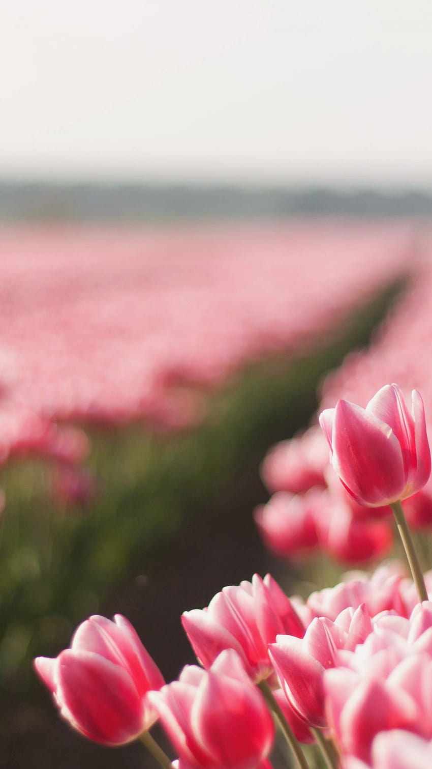
M426 191L0 181L0 220L164 221L312 215L430 217Z

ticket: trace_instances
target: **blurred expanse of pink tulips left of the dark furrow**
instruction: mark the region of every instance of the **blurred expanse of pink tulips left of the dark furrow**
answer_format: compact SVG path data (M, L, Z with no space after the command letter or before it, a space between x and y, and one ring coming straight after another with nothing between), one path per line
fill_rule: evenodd
M5 229L0 251L0 460L54 460L57 496L79 501L93 485L71 424L196 424L206 391L303 352L400 275L411 230Z

